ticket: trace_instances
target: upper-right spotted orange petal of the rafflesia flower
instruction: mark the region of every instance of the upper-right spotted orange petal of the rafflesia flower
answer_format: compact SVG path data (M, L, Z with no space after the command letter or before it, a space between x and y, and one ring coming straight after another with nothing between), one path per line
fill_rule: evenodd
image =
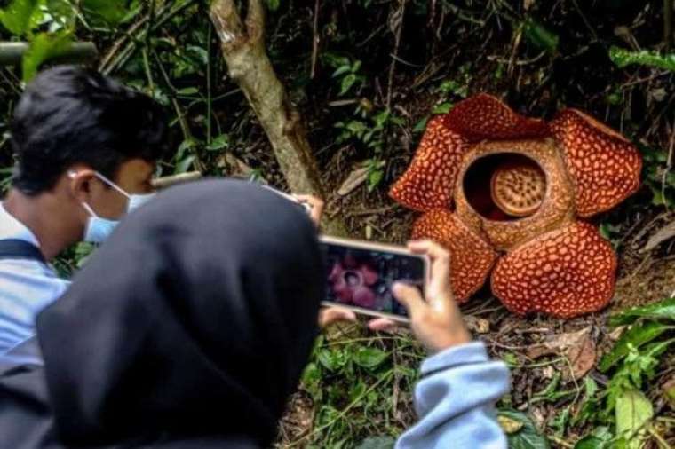
M638 190L642 159L621 134L576 109L561 111L551 129L575 185L579 216L612 209Z

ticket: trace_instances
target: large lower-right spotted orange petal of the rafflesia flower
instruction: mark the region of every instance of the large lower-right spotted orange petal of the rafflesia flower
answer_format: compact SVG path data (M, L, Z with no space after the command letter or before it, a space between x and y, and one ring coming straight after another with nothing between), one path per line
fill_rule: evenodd
M614 292L616 256L592 225L545 233L497 262L492 292L519 315L572 318L605 307Z

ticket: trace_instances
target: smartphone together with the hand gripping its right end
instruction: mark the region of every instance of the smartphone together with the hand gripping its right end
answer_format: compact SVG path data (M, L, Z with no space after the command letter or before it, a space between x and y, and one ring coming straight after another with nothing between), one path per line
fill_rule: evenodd
M327 311L339 307L380 317L369 324L374 330L382 329L373 326L378 321L409 322L432 353L471 341L450 288L449 252L437 243L411 241L400 248L323 237L322 250Z

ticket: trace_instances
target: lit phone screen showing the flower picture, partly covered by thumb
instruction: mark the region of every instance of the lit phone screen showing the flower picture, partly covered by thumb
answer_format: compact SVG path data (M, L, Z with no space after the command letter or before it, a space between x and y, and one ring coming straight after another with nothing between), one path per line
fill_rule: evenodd
M396 281L424 288L425 263L406 256L322 243L326 261L326 300L369 311L407 316L392 294Z

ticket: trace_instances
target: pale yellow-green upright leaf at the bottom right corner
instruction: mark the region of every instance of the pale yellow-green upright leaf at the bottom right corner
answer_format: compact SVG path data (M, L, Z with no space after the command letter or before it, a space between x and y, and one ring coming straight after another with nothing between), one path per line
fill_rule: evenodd
M616 436L623 438L626 449L639 449L645 425L654 416L654 407L638 390L624 391L616 399Z

